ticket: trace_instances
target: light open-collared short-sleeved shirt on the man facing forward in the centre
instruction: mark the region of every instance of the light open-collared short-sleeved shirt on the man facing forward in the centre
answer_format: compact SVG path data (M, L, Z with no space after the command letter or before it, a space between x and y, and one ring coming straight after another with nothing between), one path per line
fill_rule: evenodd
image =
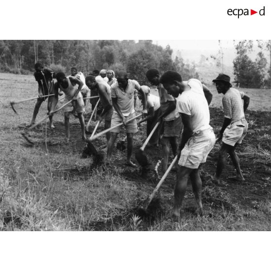
M137 98L137 91L140 89L140 85L137 81L128 79L128 85L125 90L119 87L119 83L116 82L111 85L111 97L117 98L119 109L124 117L129 116L135 112L134 102ZM117 111L114 108L114 112Z

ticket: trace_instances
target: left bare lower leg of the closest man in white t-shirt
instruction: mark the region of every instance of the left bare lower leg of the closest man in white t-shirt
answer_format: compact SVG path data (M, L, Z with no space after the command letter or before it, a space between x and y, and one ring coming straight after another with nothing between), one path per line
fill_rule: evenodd
M193 169L186 167L178 167L177 180L174 191L174 206L171 210L172 215L180 217L181 206L183 203L184 196L186 194L187 178Z

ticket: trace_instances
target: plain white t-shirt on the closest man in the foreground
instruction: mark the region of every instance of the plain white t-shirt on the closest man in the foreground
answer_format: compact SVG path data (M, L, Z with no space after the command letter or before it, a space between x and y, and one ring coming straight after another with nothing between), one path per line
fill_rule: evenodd
M211 127L208 103L199 80L188 80L185 91L176 98L176 111L191 116L193 133Z

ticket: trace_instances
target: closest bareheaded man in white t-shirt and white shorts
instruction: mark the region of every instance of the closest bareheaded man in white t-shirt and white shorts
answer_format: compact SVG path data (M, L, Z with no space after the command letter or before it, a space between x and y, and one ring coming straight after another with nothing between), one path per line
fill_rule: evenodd
M176 111L181 114L184 125L177 166L177 180L174 191L172 215L180 217L181 205L190 177L197 212L203 215L202 180L199 167L206 162L208 153L215 145L215 134L210 126L210 113L203 85L197 79L184 83L176 71L166 71L160 83L170 95L176 98ZM181 94L181 95L180 95Z

